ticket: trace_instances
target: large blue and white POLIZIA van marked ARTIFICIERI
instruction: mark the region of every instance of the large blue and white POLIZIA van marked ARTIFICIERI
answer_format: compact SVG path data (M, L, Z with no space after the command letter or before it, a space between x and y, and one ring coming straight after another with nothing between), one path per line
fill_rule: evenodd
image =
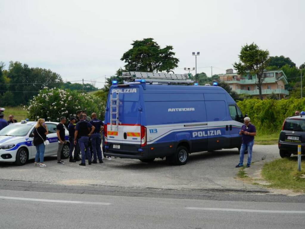
M105 114L105 155L184 165L194 152L239 148L242 112L218 86L112 85Z

